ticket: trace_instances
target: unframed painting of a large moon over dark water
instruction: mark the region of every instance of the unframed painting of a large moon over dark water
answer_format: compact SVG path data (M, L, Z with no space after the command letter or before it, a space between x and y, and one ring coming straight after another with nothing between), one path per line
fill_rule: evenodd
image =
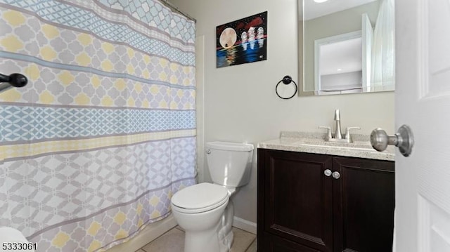
M216 67L267 59L267 11L216 27Z

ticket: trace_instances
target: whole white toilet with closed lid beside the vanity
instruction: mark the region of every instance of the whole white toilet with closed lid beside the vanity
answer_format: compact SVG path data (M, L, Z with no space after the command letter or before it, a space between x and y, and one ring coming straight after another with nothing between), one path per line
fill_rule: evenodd
M233 195L250 180L253 145L207 142L207 164L212 183L179 190L172 197L172 212L184 228L184 252L225 252L233 243Z

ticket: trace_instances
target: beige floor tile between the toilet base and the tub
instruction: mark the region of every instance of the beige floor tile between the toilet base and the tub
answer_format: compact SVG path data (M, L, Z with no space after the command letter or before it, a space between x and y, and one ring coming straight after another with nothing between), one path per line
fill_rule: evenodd
M146 252L183 252L184 251L184 232L173 228L169 232L162 234L143 247Z

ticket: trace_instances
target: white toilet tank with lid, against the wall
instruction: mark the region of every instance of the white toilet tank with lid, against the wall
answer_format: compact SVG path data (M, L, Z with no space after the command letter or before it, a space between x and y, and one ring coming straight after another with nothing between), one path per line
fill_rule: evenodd
M207 142L206 160L212 181L240 187L250 181L253 145L240 142Z

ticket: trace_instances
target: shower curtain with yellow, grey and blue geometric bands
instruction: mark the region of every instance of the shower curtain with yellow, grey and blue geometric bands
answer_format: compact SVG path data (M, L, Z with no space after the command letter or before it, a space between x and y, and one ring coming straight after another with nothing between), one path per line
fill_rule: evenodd
M195 23L158 0L0 0L0 226L105 251L195 183Z

